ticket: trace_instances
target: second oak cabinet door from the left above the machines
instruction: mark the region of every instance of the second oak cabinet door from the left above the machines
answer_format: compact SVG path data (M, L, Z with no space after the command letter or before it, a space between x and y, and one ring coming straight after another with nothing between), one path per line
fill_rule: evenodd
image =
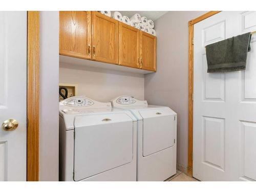
M118 24L118 20L93 11L93 60L118 63Z

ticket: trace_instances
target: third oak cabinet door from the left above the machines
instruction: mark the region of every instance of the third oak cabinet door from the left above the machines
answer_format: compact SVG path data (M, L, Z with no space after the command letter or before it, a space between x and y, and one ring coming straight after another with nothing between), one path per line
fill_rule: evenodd
M139 68L140 31L129 25L119 23L119 65Z

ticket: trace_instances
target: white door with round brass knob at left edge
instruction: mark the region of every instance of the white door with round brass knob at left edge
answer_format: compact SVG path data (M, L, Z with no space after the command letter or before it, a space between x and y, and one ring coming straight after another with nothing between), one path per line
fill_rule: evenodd
M27 12L0 11L0 26L0 181L26 181Z

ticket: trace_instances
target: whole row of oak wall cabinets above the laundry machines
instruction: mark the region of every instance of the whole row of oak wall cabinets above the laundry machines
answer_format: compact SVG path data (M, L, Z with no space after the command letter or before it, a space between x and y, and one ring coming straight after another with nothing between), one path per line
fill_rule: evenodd
M97 11L59 12L59 54L156 71L156 37Z

